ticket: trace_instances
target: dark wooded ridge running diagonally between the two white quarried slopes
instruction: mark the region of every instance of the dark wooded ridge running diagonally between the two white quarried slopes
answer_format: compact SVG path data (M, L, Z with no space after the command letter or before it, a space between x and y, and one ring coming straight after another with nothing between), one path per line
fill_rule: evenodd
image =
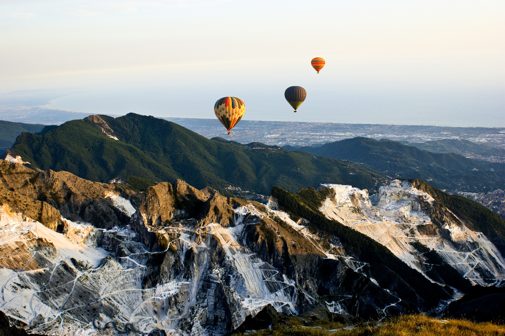
M272 197L277 199L280 210L289 213L294 220L300 217L308 219L312 230L337 237L349 255L369 263L371 272L379 284L380 273L384 273L381 269L387 267L411 285L417 294L426 300L428 306L433 306L438 300L449 297L441 286L429 281L421 273L398 259L385 246L336 220L326 218L319 208L329 194L328 188L322 188L320 191L304 188L296 195L279 187L272 188Z

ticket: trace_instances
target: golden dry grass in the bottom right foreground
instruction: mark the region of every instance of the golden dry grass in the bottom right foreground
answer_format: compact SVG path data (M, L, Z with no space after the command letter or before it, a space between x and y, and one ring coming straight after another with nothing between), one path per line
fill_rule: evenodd
M325 326L326 327L326 326ZM321 327L277 324L272 330L261 330L247 336L505 336L503 325L468 320L440 320L424 315L393 317L382 323L368 322L352 329L329 330Z

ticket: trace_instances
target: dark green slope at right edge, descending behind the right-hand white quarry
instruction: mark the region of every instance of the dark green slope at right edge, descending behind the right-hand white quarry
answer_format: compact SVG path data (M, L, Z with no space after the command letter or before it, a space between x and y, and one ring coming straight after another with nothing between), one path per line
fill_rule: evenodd
M419 179L409 180L419 190L425 191L441 206L449 209L471 230L482 232L505 254L505 220L483 205L459 195L449 195Z

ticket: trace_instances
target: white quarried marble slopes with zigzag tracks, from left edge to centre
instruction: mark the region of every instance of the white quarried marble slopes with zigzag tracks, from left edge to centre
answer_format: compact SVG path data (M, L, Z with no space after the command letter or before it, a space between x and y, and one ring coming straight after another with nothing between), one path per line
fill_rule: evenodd
M129 203L115 203L130 214ZM163 329L167 334L197 335L212 333L200 321L224 320L231 314L237 327L267 304L296 314L293 281L237 243L246 225L241 222L244 216L266 214L251 205L236 209L236 214L232 227L198 227L194 220L182 220L159 230L175 252L174 263L184 263L186 273L171 274L146 288L145 265L156 253L139 242L136 232L63 219L64 233L58 233L2 208L0 305L32 332L75 335L110 334L111 327L93 328L90 321L95 316L98 326L115 321L121 330L132 323L142 332ZM219 263L213 260L216 250L224 253ZM228 293L217 292L223 280ZM219 303L222 296L234 311L225 311L229 308ZM181 319L188 318L194 322L189 332L179 327Z

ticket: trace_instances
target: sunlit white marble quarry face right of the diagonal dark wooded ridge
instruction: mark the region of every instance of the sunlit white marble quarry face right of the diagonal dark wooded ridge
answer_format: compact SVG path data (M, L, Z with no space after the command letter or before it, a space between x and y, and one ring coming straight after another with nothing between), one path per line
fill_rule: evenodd
M436 251L473 283L496 284L505 278L505 260L489 239L448 215L447 209L434 208L434 199L409 182L393 180L370 197L367 190L349 185L321 186L334 192L323 203L323 214L375 239L427 277L431 265L413 243ZM438 224L430 213L438 215Z

